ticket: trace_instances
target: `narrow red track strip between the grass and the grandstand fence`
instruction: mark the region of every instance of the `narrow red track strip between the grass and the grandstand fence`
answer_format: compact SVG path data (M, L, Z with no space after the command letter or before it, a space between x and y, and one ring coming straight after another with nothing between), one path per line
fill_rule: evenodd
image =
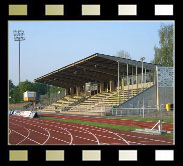
M57 118L62 118L62 119L65 118L65 119L82 120L82 121L98 122L98 123L106 123L106 124L142 127L142 128L148 128L148 129L153 128L153 126L157 123L157 122L150 122L150 121L143 122L143 121L138 121L138 120L112 119L112 118L78 116L78 115L59 115L59 114L46 114L46 113L41 113L41 115L57 117ZM158 128L158 126L155 127L155 129L157 129L157 128ZM173 131L173 124L163 122L162 130Z

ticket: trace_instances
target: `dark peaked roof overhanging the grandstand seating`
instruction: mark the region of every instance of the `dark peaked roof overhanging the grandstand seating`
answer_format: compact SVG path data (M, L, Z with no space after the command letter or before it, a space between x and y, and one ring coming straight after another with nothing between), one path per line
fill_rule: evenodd
M127 64L129 75L132 73L132 68L133 73L135 73L136 66L138 67L138 73L141 73L141 61L96 53L80 61L43 75L34 81L67 88L81 86L84 83L91 81L103 82L117 80L118 61L120 62L120 75L126 75ZM154 71L156 65L144 62L143 66L147 70Z

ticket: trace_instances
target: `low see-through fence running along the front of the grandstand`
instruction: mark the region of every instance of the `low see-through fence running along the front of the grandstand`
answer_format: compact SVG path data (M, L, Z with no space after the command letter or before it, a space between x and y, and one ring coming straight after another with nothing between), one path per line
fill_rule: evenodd
M154 119L173 119L173 110L167 111L165 108L157 110L157 108L115 108L105 106L55 106L48 110L54 113L72 113L99 116L123 116L137 118L154 118Z

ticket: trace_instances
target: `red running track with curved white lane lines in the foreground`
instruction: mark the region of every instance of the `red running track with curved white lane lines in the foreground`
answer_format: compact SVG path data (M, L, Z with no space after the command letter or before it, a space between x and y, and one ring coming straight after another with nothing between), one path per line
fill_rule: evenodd
M173 139L56 120L9 116L12 145L172 145Z

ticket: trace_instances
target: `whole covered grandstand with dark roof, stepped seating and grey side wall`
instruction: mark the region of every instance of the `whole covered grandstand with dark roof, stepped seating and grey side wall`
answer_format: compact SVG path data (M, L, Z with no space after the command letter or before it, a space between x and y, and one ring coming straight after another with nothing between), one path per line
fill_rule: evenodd
M172 72L173 68L165 68L96 53L43 75L35 82L65 88L62 98L42 111L106 115L113 108L141 108L142 104L155 106L159 111L167 103L173 103L173 77L169 78L170 85L166 85L159 73L161 69Z

